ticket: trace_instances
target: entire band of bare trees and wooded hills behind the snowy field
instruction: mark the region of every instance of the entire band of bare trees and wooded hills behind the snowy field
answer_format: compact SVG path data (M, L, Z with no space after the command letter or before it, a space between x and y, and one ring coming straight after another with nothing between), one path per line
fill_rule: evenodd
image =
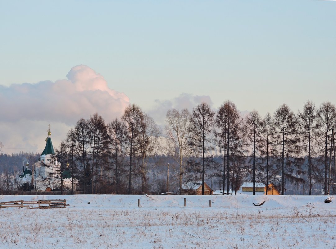
M164 130L132 104L111 123L98 113L78 120L55 157L84 193L182 193L185 181L200 181L235 194L251 181L272 183L281 194L327 194L330 165L336 182L335 127L328 101L319 107L307 101L297 113L283 104L264 117L256 110L241 116L231 101L217 111L201 103L191 112L168 110ZM0 188L38 157L0 154Z

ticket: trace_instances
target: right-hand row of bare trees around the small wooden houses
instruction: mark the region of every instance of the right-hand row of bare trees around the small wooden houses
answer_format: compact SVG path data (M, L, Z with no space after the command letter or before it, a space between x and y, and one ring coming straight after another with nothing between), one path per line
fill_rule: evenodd
M217 112L202 103L192 113L173 109L166 116L168 151L180 165L180 190L185 167L199 166L202 193L211 152L219 150L222 170L215 166L221 172L223 189L226 184L226 194L230 183L231 190L237 190L243 179L252 180L253 194L256 182L268 186L270 180L284 194L286 182L304 183L305 177L309 194L313 183L320 183L327 194L330 137L335 125L335 106L330 102L315 108L307 101L297 114L283 104L273 116L267 113L264 118L256 110L242 117L231 101L224 102ZM190 160L191 156L197 159Z

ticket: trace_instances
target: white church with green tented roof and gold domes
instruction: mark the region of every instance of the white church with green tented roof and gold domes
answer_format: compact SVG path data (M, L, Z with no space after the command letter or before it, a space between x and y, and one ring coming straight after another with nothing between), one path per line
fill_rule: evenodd
M73 181L74 190L76 190L78 180L71 178L71 171L68 169L69 163L65 165L65 170L61 170L61 164L57 162L51 142L50 128L45 141L46 145L39 160L34 163L32 169L28 168L28 163L26 164L26 169L18 178L18 184L21 185L28 182L34 186L35 191L51 191L53 189L60 189L61 181L63 181L63 189L71 190Z

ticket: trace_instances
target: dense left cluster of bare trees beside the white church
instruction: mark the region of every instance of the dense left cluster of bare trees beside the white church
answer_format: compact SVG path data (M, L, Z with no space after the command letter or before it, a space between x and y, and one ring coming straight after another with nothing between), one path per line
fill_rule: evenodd
M125 189L125 157L128 157L127 193L133 192L134 174L140 176L141 190L146 192L148 161L159 149L159 134L154 120L133 104L125 109L120 119L107 124L97 113L87 120L81 118L56 149L55 156L61 163L60 171L69 164L68 170L72 178L79 180L80 189L91 194L107 189L119 193L120 189Z

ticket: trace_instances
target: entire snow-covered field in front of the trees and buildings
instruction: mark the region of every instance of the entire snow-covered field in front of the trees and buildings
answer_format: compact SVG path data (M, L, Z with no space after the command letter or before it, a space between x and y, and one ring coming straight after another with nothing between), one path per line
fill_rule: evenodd
M0 208L0 248L336 248L336 198L324 203L325 198L0 195L0 202L66 199L70 204L65 209ZM252 204L261 201L266 202Z

